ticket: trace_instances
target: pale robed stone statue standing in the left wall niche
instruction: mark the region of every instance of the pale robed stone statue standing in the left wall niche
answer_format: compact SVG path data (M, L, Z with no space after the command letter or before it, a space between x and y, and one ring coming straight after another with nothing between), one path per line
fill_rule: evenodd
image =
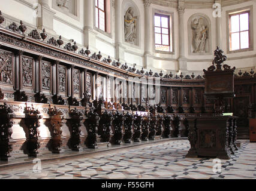
M125 42L134 44L135 34L135 18L133 16L134 11L132 7L129 7L127 13L125 13Z

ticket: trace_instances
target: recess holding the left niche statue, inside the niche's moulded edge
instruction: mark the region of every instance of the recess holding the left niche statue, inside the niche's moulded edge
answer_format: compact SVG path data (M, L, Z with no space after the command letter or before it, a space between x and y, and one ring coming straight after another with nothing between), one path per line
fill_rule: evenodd
M129 6L129 7L128 7ZM138 13L134 6L125 6L124 36L125 42L138 46Z

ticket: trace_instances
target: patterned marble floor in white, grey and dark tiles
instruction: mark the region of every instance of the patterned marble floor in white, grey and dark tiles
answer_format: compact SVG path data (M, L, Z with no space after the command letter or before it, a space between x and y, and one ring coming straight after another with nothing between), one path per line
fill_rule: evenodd
M213 172L216 166L213 159L185 158L189 147L188 140L170 140L135 149L95 153L86 158L42 164L37 160L34 165L1 169L0 178L256 178L256 143L243 141L239 152L230 160L222 160L217 172Z

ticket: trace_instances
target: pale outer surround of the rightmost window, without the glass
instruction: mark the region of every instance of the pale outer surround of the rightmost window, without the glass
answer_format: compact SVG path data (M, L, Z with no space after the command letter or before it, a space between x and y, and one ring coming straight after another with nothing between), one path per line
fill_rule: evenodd
M233 16L235 14L241 14L248 11L249 12L249 48L243 48L239 50L230 50L230 15ZM227 54L233 54L233 53L243 53L246 51L253 51L254 50L254 20L253 20L253 6L249 5L248 7L238 8L236 10L227 10L226 11L226 35L227 35Z

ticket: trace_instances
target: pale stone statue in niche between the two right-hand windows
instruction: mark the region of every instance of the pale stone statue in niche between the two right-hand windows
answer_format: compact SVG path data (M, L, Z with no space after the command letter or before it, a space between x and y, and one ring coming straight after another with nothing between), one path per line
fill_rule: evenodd
M191 28L194 30L193 42L194 53L206 53L205 45L208 39L208 27L204 25L203 18L194 19L191 23Z

